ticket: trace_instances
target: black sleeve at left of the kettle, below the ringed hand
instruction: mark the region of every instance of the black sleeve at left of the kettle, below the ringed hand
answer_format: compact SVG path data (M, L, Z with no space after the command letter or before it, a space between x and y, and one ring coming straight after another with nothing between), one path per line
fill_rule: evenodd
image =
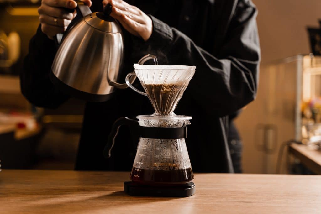
M68 99L58 91L49 79L51 64L56 54L55 41L50 40L39 26L29 44L29 53L24 59L20 73L22 94L34 105L56 108Z

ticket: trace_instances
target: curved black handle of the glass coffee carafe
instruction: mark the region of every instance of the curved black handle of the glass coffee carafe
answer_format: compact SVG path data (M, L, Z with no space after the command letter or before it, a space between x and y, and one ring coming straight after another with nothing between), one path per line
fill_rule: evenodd
M117 137L119 128L122 125L128 125L129 127L132 127L132 128L138 128L139 127L138 120L132 120L132 119L129 119L128 117L120 117L120 118L118 118L114 122L114 124L113 124L113 126L111 128L111 132L110 132L110 134L108 136L108 141L107 141L107 144L106 144L105 149L104 149L104 157L105 158L110 158L111 150L114 147L115 139Z

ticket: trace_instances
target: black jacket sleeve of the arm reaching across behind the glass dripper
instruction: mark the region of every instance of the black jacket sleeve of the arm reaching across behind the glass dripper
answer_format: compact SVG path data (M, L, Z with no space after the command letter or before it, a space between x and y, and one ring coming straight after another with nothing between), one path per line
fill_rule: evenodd
M195 65L188 86L192 98L206 115L227 116L256 97L260 62L256 15L250 1L238 2L217 56L153 16L153 32L145 45L151 54L166 57L168 64Z

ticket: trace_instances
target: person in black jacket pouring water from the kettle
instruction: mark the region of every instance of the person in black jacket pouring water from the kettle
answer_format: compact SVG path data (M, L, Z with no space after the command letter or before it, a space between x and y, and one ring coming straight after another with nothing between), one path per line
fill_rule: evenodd
M121 78L145 54L159 64L195 65L196 72L175 113L193 117L187 149L194 172L234 172L228 146L229 115L255 99L260 62L257 10L251 0L83 0L91 10L113 6L123 27L125 60ZM92 5L91 5L92 4ZM23 95L34 105L56 108L69 97L49 80L55 35L81 18L73 0L42 0L40 25L30 40L21 77ZM138 81L135 87L138 87ZM103 157L113 122L152 114L147 97L117 90L106 102L87 102L76 170L131 170L138 140L121 127L111 158Z

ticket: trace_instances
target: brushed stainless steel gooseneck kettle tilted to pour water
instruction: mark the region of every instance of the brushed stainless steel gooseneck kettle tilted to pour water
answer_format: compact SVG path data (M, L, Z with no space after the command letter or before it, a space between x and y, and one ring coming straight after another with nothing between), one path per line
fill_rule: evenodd
M50 73L51 81L70 96L87 101L106 101L115 88L125 89L126 83L117 83L124 56L124 39L119 23L104 12L91 13L88 6L77 2L77 14L83 18L64 36L57 34L61 45ZM143 64L154 56L144 56ZM135 78L135 77L134 77ZM131 81L134 81L134 78Z

